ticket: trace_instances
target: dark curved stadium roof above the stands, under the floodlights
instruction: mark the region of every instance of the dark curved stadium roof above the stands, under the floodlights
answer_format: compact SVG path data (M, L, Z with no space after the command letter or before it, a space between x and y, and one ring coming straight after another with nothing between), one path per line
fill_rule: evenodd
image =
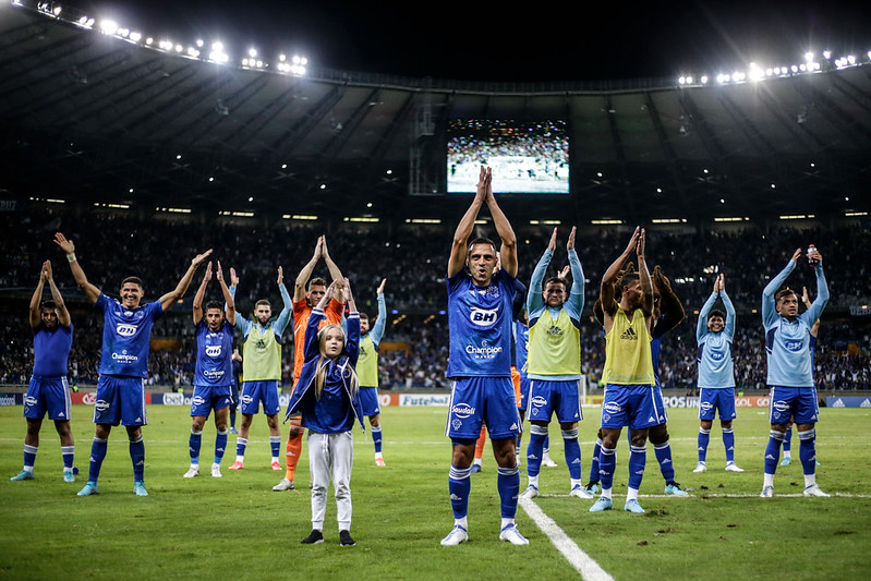
M536 197L531 217L843 215L871 209L868 60L704 86L295 76L5 4L0 197L456 219L468 197L440 195L448 120L562 119L572 195ZM527 199L507 204L529 216Z

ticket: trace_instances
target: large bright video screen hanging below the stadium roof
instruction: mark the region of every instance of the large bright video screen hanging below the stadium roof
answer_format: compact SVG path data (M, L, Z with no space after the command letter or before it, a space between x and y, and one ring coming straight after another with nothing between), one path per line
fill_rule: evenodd
M565 121L453 120L448 126L448 193L474 193L481 166L493 169L493 191L569 193Z

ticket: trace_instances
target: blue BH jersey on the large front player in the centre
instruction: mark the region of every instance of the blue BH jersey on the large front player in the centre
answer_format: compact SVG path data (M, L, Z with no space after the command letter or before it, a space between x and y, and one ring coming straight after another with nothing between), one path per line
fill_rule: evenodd
M515 277L499 270L479 288L465 270L447 279L448 378L511 377Z

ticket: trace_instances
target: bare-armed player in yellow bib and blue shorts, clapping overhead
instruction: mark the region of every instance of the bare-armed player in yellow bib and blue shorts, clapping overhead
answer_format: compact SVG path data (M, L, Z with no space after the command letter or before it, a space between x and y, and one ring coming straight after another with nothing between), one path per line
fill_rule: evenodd
M598 458L602 496L590 512L610 510L614 471L617 464L617 441L625 425L629 426L629 487L624 510L644 512L638 501L638 489L646 463L648 431L660 424L662 410L656 409L651 354L653 322L653 282L644 262L644 230L636 228L622 254L602 277L602 301L605 327L605 399L602 403L602 451ZM638 273L626 274L618 286L620 302L614 300L614 280L632 252L638 256Z

